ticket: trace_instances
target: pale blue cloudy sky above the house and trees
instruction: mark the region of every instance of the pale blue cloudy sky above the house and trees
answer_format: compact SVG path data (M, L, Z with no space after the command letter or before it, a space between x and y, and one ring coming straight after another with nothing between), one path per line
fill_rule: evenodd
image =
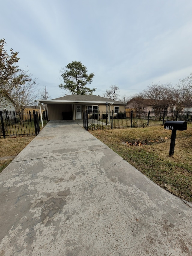
M60 70L80 61L101 95L134 95L192 73L191 0L6 0L0 38L50 98L65 95Z

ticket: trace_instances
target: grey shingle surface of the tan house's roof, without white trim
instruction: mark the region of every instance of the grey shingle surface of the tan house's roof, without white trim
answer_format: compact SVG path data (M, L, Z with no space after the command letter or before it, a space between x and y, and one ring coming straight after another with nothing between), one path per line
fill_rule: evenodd
M52 99L58 101L113 101L113 104L125 105L125 102L115 101L97 95L66 95L60 98Z

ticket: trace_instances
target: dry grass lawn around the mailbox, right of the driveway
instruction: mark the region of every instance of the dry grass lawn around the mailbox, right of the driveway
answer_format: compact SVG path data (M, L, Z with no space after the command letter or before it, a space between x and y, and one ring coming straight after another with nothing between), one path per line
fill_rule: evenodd
M91 131L91 133L162 188L192 202L191 124L187 125L187 131L177 131L174 157L169 157L171 131L163 127ZM123 145L122 142L142 144L130 146Z

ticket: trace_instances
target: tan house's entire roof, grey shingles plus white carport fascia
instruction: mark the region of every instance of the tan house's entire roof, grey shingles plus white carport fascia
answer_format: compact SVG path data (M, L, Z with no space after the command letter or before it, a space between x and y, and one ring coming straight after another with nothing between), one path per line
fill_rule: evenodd
M117 104L117 105L126 105L125 102L110 100L97 95L67 95L64 97L52 99L52 100L38 100L41 103L46 104Z

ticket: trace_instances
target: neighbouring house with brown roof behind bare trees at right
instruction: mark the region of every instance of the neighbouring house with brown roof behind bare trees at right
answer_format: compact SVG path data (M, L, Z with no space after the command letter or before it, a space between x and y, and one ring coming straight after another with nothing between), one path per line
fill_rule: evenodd
M161 100L159 100L161 101ZM164 103L163 103L164 104ZM142 98L132 98L128 101L127 105L125 106L126 109L128 108L135 108L140 109L141 111L154 111L152 106L152 100L150 99L142 99ZM167 101L166 107L164 108L165 111L170 111L171 107L169 101Z

